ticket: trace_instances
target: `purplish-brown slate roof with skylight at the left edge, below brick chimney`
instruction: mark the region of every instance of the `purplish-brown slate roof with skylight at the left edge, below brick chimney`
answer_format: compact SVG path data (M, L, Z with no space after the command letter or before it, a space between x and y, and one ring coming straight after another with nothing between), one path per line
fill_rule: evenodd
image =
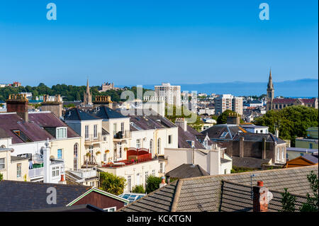
M9 137L12 137L13 144L23 143L24 141L12 130L20 130L33 142L47 140L47 138L55 138L45 129L41 128L37 123L26 122L16 113L0 114L0 128L2 128Z

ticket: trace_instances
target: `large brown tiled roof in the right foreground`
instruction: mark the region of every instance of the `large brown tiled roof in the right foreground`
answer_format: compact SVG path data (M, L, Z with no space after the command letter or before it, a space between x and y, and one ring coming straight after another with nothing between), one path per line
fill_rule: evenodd
M310 171L318 175L318 165L179 179L118 211L250 211L251 179L253 186L264 181L264 186L274 194L269 211L278 211L284 188L296 194L298 201L304 201L306 193L311 193L307 179Z

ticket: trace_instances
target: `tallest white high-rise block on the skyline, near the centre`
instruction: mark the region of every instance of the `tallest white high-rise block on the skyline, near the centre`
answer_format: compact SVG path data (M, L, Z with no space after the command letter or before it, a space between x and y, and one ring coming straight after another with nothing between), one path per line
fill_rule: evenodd
M164 97L167 104L181 106L181 86L162 83L162 86L155 86L155 96Z

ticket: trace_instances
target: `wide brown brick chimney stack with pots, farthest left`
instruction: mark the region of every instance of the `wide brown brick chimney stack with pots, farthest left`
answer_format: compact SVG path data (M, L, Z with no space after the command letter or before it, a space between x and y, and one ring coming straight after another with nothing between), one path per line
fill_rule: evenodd
M28 99L26 94L10 94L6 100L6 112L16 112L23 120L28 122Z

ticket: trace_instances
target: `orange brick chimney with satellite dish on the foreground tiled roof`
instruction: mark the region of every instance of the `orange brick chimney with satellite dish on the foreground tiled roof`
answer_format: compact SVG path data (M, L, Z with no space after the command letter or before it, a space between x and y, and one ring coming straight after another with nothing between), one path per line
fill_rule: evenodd
M257 181L257 186L252 188L253 192L253 211L254 212L267 212L268 203L272 200L272 193L268 188L264 187L263 181Z

